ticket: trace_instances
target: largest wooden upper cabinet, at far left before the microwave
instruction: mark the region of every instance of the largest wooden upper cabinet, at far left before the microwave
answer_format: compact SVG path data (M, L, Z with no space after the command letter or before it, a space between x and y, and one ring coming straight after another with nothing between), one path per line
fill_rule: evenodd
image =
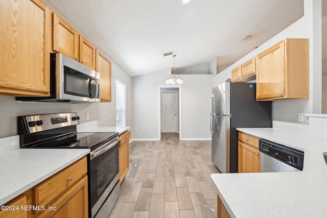
M39 0L0 1L0 93L50 93L50 9Z

